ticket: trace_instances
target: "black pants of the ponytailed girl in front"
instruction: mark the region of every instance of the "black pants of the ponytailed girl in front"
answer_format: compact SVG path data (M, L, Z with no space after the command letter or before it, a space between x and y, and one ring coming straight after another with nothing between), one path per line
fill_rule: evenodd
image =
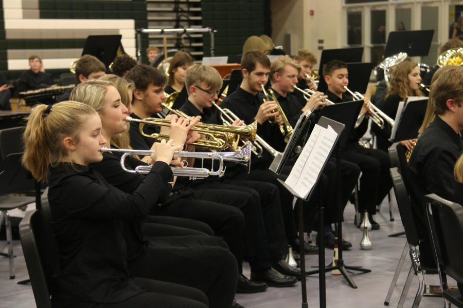
M76 303L73 307L126 308L126 307L169 307L169 308L206 308L207 297L201 291L184 285L134 278L135 282L148 292L133 296L118 303Z

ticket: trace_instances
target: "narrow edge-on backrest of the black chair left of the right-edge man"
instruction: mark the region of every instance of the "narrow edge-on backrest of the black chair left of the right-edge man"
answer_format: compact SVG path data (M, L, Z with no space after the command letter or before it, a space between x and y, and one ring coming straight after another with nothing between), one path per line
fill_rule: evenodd
M397 207L399 208L402 225L405 229L405 236L408 244L417 246L419 243L418 234L416 232L415 222L412 214L412 204L407 194L405 184L397 167L390 168L390 176L394 184L394 192L396 194Z

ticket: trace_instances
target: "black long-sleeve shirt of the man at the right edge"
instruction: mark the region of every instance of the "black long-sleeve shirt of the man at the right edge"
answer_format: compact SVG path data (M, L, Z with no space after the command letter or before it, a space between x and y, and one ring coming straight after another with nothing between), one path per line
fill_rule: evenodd
M409 191L418 235L428 238L423 197L436 194L453 201L456 182L453 168L463 151L463 141L439 116L424 130L408 162Z

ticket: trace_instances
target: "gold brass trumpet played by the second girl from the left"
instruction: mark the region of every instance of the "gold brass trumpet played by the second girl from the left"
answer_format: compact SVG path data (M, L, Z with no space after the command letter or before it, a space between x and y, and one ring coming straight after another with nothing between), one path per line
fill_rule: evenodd
M170 139L169 136L160 133L147 134L143 131L145 125L170 127L170 120L158 118L145 118L143 120L139 120L133 119L131 117L127 117L126 119L128 122L140 123L140 133L144 137L154 138L156 140ZM238 146L240 136L246 137L247 139L254 142L256 138L257 123L241 127L228 127L224 125L198 123L193 126L192 130L197 131L206 137L206 139L199 139L198 141L192 143L195 146L205 147L211 150L224 150L228 147L236 151L240 149Z

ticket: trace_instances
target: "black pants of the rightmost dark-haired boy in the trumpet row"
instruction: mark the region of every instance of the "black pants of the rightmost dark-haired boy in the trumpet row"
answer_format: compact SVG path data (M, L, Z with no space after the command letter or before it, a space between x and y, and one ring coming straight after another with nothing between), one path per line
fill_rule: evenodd
M383 201L392 187L390 162L386 152L349 144L341 150L344 160L355 163L362 171L359 190L359 210L376 214L376 206Z

